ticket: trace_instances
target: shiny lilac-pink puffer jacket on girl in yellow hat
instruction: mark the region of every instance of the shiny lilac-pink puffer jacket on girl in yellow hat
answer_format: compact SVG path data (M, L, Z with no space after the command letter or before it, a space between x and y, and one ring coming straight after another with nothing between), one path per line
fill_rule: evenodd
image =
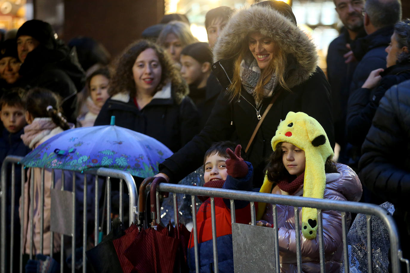
M337 164L338 173L326 174L326 188L323 199L341 201L359 201L362 196L362 184L357 174L348 166ZM293 194L303 195L303 185ZM297 272L296 238L294 208L288 205L276 205L278 211L278 232L280 251L280 271ZM350 225L351 215L347 215L347 225ZM273 223L272 205L266 205L263 220ZM302 208L299 208L300 226L302 225ZM323 247L326 259L326 272L339 272L343 261L342 247L342 216L339 211L323 210ZM301 238L301 255L303 272L320 272L319 236L308 240Z

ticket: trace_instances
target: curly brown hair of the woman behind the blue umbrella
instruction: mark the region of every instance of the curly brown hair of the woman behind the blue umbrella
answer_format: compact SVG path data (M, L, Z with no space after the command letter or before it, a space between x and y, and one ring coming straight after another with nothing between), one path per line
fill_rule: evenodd
M182 79L179 70L174 65L171 57L164 52L159 45L148 40L139 40L124 50L115 65L116 69L110 82L108 94L112 96L122 92L130 92L130 97L135 97L137 95L134 76L132 74L132 66L134 65L139 54L148 48L152 48L155 51L158 56L159 63L161 64L161 80L157 86L157 91L162 89L162 87L166 84L166 81L171 80L173 88L182 87L183 90L181 89L176 92L180 94L180 98L178 99L182 100L182 97L188 94L188 87Z

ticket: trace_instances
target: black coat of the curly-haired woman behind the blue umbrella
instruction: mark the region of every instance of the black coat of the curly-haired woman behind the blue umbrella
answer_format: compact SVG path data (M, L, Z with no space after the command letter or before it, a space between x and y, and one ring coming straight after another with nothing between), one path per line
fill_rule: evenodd
M108 125L114 115L115 125L149 135L173 152L199 132L199 114L187 96L180 103L174 96L154 98L139 110L129 95L121 95L114 95L105 102L94 125Z

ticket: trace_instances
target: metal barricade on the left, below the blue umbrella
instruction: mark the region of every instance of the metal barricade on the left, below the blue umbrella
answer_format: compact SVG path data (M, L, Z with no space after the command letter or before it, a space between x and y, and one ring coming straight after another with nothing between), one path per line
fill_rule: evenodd
M21 225L20 229L20 245L15 246L14 245L14 225L13 225L13 219L16 217L14 215L14 204L15 202L18 202L18 200L14 200L14 195L15 195L15 183L21 183L21 195L24 192L24 184L25 184L25 167L23 165L20 165L21 167L21 181L15 181L15 168L16 165L19 165L20 160L23 157L20 156L7 156L5 160L3 161L2 164L2 169L1 169L1 189L0 189L0 207L1 207L1 233L0 233L0 272L5 273L6 272L6 266L9 264L9 270L10 272L23 272L23 251L25 251L25 247L23 247L23 224ZM7 199L7 165L12 164L11 166L11 230L10 230L10 244L9 247L10 249L6 249L6 244L8 238L6 238L6 222L8 219L6 219L6 199ZM32 175L34 173L34 168L32 170ZM51 236L50 236L50 242L44 242L43 240L43 225L44 225L44 168L41 168L41 192L40 192L40 248L39 252L43 252L43 245L46 243L50 243L50 257L52 257L53 253L53 241L54 241L54 236L53 236L53 231L51 231ZM68 171L68 170L65 170ZM72 259L71 259L71 271L75 272L75 222L76 221L82 221L82 228L83 228L83 237L82 237L82 270L83 272L86 272L87 270L87 264L86 264L86 248L87 248L87 176L95 176L95 204L94 204L94 232L95 232L95 245L98 244L98 234L99 234L99 229L98 229L98 223L99 223L99 200L98 200L98 177L106 177L106 188L107 188L107 234L111 229L111 180L110 178L118 178L120 179L120 196L119 196L119 217L120 219L123 219L123 181L125 181L125 184L128 188L128 194L129 194L129 225L131 225L132 222L136 222L137 220L137 187L135 185L134 178L132 177L131 174L125 171L120 171L120 170L115 170L115 169L107 169L107 168L99 168L93 171L84 171L82 173L84 175L84 198L83 198L83 217L82 219L75 219L76 218L76 213L75 213L75 205L76 205L76 200L75 200L75 172L70 171L73 174L73 192L68 192L68 195L66 194L66 197L68 196L71 198L72 202L72 217L71 217L71 230L68 231L68 235L72 237ZM52 179L52 188L54 187L55 183L55 176L54 176L54 169L52 169L51 173L51 179ZM62 188L61 192L64 191L64 171L62 171ZM78 183L78 181L77 181ZM31 188L29 189L29 194L33 196L34 193L34 183L31 183ZM70 196L71 195L71 196ZM33 198L31 198L31 201L33 202ZM24 198L21 198L21 208L23 213L23 208L24 208ZM34 215L33 212L33 203L31 204L31 211L28 212L32 216ZM24 217L25 215L23 215ZM54 217L58 217L58 215L54 215ZM50 217L50 222L53 219L53 215ZM33 217L31 217L31 223L30 223L30 259L33 256L32 250L33 250ZM67 234L66 234L67 235ZM63 272L64 268L64 234L61 234L61 257L60 257L60 272ZM13 257L13 250L14 247L19 247L20 248L20 257ZM9 257L6 260L6 252L9 251ZM20 260L19 263L19 268L13 268L13 262L16 261L15 259Z

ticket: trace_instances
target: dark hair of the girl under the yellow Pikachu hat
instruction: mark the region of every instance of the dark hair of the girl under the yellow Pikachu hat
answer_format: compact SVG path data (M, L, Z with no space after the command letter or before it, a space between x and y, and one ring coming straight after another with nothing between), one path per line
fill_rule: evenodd
M269 181L271 182L278 182L282 180L292 179L295 176L289 174L289 172L285 169L282 161L282 142L279 142L276 145L275 151L271 153L269 159L267 160L268 163L264 170L264 173L268 176ZM337 173L337 167L335 162L329 157L326 159L325 162L325 172L326 173Z

